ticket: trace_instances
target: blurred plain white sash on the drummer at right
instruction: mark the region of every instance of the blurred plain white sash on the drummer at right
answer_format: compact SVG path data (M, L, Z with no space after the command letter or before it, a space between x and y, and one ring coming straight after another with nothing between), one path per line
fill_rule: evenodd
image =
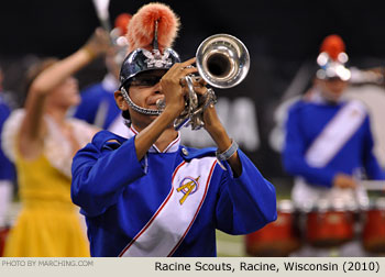
M366 115L359 101L346 103L324 126L306 153L306 162L312 167L326 166L361 126Z

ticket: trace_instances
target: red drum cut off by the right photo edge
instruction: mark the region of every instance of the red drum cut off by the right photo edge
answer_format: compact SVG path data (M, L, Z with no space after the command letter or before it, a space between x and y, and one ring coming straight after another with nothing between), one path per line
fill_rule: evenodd
M367 252L385 253L385 198L371 201L363 211L362 243Z

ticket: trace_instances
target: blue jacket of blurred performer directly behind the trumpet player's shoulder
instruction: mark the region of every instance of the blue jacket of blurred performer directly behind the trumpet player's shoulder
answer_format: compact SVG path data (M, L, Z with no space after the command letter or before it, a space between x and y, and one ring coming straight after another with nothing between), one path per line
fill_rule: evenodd
M82 90L74 117L107 130L121 114L113 97L118 87L118 81L109 74L102 82Z

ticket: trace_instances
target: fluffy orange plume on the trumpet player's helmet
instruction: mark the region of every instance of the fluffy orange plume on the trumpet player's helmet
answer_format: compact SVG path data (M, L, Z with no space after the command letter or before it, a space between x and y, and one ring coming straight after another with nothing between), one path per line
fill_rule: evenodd
M136 48L152 49L155 21L157 21L157 43L160 51L172 47L179 30L179 18L164 3L143 5L130 20L127 38L129 53Z

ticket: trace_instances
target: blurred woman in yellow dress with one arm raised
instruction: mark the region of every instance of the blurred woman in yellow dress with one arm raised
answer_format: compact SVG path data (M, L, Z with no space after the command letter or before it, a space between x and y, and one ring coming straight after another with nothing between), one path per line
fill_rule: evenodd
M70 201L70 164L98 130L66 113L80 101L72 76L106 53L109 44L108 34L96 30L70 56L44 59L28 71L24 109L14 111L3 130L3 149L15 163L22 202L6 256L89 256Z

